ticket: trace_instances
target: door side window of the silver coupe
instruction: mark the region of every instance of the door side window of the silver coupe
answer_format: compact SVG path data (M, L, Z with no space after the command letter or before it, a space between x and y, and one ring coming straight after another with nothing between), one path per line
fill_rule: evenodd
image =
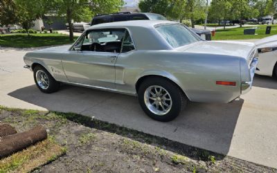
M82 51L120 53L125 29L90 30L84 36Z

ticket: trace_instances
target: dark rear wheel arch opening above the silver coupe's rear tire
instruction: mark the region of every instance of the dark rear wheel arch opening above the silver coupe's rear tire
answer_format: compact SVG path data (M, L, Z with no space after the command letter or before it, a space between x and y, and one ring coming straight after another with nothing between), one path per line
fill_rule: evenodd
M136 80L136 93L138 93L139 91L139 86L142 84L142 82L146 79L146 78L163 78L168 80L169 82L172 82L172 84L175 84L176 86L178 86L178 88L182 91L182 93L184 94L184 96L186 98L188 98L188 95L186 94L186 92L184 91L184 89L181 88L179 82L177 82L176 80L173 80L172 78L169 78L166 75L158 75L158 74L148 74L148 75L142 75L140 78L138 78L138 80ZM190 100L190 98L188 98L188 100Z

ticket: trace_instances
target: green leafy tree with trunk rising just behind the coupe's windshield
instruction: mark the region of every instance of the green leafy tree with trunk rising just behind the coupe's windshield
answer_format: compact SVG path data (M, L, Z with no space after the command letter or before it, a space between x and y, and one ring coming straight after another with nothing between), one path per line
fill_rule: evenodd
M49 6L59 16L66 16L69 24L69 39L73 41L72 21L89 21L98 13L118 12L123 6L122 0L48 0Z

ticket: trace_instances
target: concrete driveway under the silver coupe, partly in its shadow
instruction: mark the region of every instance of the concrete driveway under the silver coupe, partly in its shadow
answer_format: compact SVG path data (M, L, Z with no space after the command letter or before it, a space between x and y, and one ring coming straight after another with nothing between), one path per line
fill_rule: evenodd
M145 116L136 98L77 86L41 93L23 69L26 50L0 48L0 105L81 113L148 134L277 168L277 80L256 76L229 104L191 102L172 122Z

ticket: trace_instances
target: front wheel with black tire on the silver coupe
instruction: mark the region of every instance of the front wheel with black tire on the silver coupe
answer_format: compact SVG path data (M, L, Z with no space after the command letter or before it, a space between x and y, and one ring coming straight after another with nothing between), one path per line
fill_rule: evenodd
M60 83L42 66L35 66L34 80L37 88L43 93L53 93L60 89Z

